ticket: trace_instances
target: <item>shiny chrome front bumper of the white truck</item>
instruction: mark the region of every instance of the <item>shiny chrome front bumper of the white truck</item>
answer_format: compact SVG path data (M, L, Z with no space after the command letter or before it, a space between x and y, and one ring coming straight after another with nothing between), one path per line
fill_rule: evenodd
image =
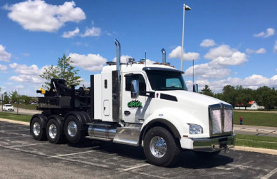
M194 151L214 152L235 146L235 134L224 137L193 139Z

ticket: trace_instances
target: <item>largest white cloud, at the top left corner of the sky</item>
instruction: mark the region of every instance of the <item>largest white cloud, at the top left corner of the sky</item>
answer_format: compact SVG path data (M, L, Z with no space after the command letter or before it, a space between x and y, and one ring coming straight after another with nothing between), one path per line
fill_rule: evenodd
M86 19L81 8L75 8L75 2L64 2L60 6L51 5L42 0L24 1L4 6L9 10L8 17L29 31L55 32L66 22L80 22Z

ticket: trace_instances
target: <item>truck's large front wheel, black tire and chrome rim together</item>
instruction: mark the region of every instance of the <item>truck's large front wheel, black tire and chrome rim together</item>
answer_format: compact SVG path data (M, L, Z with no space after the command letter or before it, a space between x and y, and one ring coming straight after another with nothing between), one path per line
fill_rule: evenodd
M171 133L162 127L148 130L143 140L145 156L151 164L166 167L177 162L180 148Z

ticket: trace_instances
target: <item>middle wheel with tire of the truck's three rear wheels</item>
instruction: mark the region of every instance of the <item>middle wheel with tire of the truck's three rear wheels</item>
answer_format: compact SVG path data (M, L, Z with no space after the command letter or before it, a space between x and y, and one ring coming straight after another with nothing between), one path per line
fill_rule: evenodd
M49 142L60 144L64 141L60 124L55 119L49 119L46 126L46 135Z

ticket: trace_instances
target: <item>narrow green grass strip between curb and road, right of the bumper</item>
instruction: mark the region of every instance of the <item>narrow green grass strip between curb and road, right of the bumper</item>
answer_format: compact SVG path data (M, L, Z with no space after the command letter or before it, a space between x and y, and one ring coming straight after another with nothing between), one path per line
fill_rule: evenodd
M236 146L249 146L256 148L277 149L277 137L266 137L256 135L235 135Z

